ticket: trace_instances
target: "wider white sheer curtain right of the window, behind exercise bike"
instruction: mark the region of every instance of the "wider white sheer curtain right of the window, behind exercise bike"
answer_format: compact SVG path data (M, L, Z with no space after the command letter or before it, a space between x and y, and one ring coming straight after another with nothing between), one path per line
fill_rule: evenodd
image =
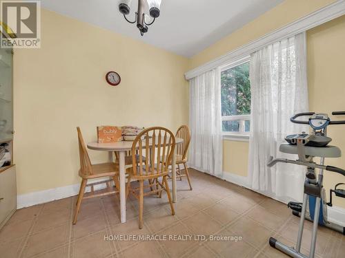
M308 131L290 122L293 114L308 111L305 33L253 53L250 87L249 185L284 202L302 200L303 167L266 164L270 156L296 159L297 155L279 152L279 144L288 134Z

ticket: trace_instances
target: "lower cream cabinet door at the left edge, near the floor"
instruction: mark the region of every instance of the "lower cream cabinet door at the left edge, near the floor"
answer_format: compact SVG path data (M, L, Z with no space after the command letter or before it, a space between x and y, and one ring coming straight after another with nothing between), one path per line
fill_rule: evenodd
M0 228L17 208L15 166L0 173Z

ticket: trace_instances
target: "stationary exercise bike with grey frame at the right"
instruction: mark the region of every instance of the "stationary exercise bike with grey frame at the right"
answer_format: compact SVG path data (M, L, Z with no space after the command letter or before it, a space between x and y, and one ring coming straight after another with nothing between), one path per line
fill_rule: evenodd
M345 115L345 111L334 111L332 114ZM297 120L297 118L301 116L309 116L309 119ZM296 114L290 120L296 124L310 125L310 127L313 129L313 132L311 134L302 132L300 134L286 136L285 140L288 143L280 145L279 151L297 154L298 160L276 158L274 160L270 160L267 165L273 166L277 162L284 162L307 167L306 180L304 182L303 203L288 203L288 206L293 209L293 214L300 216L297 244L296 248L289 247L277 241L277 239L273 237L270 237L269 243L270 246L286 253L286 255L290 255L290 257L307 257L306 255L303 255L300 250L302 244L304 220L310 219L313 221L313 233L309 257L313 258L315 255L318 224L335 229L345 235L345 228L343 226L332 224L327 220L327 205L331 206L332 201L326 203L325 191L322 186L324 170L332 171L345 176L345 170L339 169L335 166L324 165L325 158L339 158L342 155L342 151L340 151L338 147L328 145L332 139L327 137L327 127L329 125L345 125L345 120L331 121L327 114L315 114L314 112ZM314 157L320 158L319 164L313 161ZM315 173L315 169L319 169L319 175ZM335 193L337 197L345 197L345 191L337 188L340 185L342 185L342 183L337 184L335 190L331 190L331 194Z

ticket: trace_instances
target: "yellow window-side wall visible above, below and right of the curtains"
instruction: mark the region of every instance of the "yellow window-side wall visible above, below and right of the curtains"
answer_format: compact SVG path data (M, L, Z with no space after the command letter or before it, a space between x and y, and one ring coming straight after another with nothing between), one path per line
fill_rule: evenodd
M286 0L193 56L189 68L198 67L333 2L333 0ZM308 89L312 111L331 114L331 111L345 109L345 86L340 76L344 73L344 42L345 17L339 17L307 32ZM328 134L333 138L332 143L345 152L344 129L344 126L330 127ZM248 142L224 140L224 171L247 175L248 145ZM328 159L326 162L345 168L345 155L334 160ZM324 186L327 194L328 189L333 188L337 182L345 182L344 177L326 172ZM335 205L345 207L344 200L335 199Z

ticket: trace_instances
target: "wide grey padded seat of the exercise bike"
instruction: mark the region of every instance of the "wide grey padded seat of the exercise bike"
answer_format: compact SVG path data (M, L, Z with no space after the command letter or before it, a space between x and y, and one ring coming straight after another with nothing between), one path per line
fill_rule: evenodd
M282 143L279 151L290 154L298 154L297 145ZM335 146L327 145L326 147L304 147L304 153L308 156L323 157L323 158L339 158L342 156L342 151Z

